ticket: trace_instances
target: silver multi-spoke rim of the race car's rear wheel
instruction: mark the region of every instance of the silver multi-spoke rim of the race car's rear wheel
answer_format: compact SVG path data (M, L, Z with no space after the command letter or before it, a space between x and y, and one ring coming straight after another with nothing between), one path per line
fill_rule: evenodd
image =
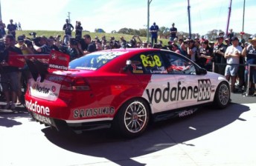
M147 122L147 110L141 102L132 102L124 113L124 125L131 133L138 133Z

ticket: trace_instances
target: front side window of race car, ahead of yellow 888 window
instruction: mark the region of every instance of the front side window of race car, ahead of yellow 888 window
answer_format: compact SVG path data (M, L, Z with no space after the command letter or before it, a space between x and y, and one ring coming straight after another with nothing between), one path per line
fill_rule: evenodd
M196 68L188 59L185 59L182 56L179 56L175 53L165 53L164 55L167 64L167 73L170 74L196 74Z

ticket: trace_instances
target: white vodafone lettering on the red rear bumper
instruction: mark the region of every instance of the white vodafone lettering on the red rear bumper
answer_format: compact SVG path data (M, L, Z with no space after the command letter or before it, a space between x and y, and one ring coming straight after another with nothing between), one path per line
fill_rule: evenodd
M45 116L50 116L50 108L49 107L39 105L39 104L37 104L37 101L32 102L32 100L31 100L31 102L28 102L26 100L25 102L26 102L26 107L28 108L28 110L31 110L35 113L40 113Z

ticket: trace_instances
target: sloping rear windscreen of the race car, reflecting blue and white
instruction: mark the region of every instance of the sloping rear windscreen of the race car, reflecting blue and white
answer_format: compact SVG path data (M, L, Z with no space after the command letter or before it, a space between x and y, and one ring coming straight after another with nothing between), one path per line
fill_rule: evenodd
M126 52L97 52L90 53L79 59L74 59L69 62L68 68L70 69L84 69L84 70L97 70L107 62L112 61L117 56L120 56Z

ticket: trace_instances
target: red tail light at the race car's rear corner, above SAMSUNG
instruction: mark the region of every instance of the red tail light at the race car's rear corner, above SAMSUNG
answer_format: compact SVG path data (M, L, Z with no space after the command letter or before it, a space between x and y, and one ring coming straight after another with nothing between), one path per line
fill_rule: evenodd
M84 78L67 77L63 80L61 90L90 90L89 84Z

